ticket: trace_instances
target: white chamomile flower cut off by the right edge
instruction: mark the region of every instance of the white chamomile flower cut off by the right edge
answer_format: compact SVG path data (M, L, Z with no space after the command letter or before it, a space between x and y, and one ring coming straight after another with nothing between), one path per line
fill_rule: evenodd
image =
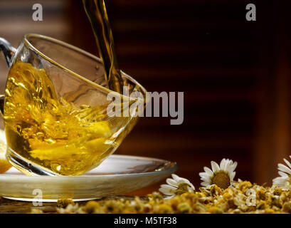
M291 158L291 156L290 156ZM288 165L278 164L278 170L280 177L273 179L273 185L281 187L284 190L289 190L291 188L291 164L284 158L285 163Z

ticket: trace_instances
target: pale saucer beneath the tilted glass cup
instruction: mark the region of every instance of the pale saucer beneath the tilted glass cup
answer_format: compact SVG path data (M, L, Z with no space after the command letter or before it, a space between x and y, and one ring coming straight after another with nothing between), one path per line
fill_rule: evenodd
M175 162L128 155L111 155L100 166L80 176L28 176L12 167L0 175L0 195L35 201L41 192L43 202L122 195L159 182L176 168Z

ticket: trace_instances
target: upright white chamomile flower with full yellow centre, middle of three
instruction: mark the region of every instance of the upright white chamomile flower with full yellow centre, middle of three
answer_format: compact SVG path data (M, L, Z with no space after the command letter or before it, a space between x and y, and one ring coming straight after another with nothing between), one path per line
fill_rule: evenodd
M226 189L231 186L233 178L236 175L236 166L238 162L233 162L233 160L225 159L221 160L220 165L216 162L211 161L211 169L204 167L205 172L200 172L201 185L207 187L209 185L217 185L221 189Z

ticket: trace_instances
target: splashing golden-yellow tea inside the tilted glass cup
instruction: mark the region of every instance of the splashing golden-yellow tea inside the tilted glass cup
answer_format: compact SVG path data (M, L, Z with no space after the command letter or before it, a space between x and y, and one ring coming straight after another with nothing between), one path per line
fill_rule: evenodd
M110 125L104 110L76 108L57 98L44 69L22 62L11 66L4 105L7 144L33 164L57 175L80 175L99 165L119 144L112 137L119 128Z

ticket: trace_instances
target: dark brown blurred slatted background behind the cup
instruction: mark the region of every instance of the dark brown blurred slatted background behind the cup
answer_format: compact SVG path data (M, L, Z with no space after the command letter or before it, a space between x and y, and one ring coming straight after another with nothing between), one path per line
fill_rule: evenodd
M43 5L33 21L32 5ZM236 178L271 185L290 153L290 1L105 0L120 68L148 91L184 91L184 123L141 118L117 154L176 161L199 187L211 160L238 161ZM253 3L257 21L246 21ZM81 1L1 0L0 36L61 39L97 55ZM0 89L7 67L0 58ZM160 184L160 183L159 183ZM134 192L143 195L158 186Z

